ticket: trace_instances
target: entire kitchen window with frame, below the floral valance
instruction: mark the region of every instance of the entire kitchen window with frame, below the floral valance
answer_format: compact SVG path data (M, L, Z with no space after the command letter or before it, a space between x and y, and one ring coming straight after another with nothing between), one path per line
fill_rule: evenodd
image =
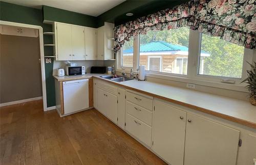
M187 27L149 31L126 42L117 56L118 71L145 66L146 76L245 91L253 50ZM119 67L118 67L119 66Z

